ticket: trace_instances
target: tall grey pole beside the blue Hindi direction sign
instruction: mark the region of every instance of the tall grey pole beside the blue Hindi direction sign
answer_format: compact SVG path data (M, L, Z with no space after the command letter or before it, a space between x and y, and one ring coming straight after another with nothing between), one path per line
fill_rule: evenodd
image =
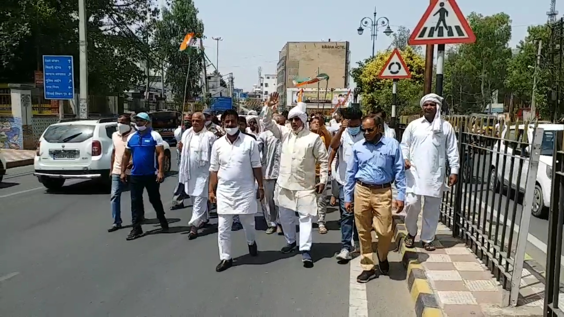
M80 95L78 117L88 118L88 55L86 41L86 0L78 0L78 51L80 58ZM43 83L45 85L45 83Z

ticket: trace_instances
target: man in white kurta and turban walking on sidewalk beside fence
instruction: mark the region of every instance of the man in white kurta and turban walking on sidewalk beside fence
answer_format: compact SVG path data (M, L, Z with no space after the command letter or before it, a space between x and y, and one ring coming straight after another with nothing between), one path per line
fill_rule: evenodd
M440 203L444 190L446 162L451 168L449 186L457 181L459 151L452 125L440 118L442 98L428 94L421 98L424 116L412 121L402 137L402 153L406 164L406 227L405 243L413 247L417 235L417 219L423 206L421 241L428 251L435 249L433 240L440 215Z

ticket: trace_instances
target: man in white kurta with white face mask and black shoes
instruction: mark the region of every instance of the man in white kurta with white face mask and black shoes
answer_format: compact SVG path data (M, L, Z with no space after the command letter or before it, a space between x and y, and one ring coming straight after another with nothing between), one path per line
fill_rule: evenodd
M261 156L257 142L239 130L239 116L234 110L223 113L222 123L226 135L211 148L210 183L211 202L217 201L219 265L215 271L227 270L233 265L231 257L231 224L239 215L249 254L257 256L254 214L257 213L257 194L262 200L265 192L262 183ZM258 192L255 190L255 180ZM216 187L217 186L217 187ZM214 188L217 188L214 193Z

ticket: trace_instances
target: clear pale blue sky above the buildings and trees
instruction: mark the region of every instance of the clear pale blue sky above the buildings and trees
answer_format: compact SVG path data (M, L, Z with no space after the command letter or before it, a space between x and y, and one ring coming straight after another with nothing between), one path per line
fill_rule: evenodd
M510 45L514 47L525 37L528 25L543 24L549 0L459 0L464 15L475 11L483 15L497 12L509 14L513 20ZM219 42L219 71L233 73L235 86L244 90L258 81L257 67L263 74L276 73L278 51L288 41L349 41L351 67L371 54L369 31L362 36L356 33L360 19L371 16L374 5L378 16L386 16L390 27L404 25L413 29L428 6L425 0L395 0L373 2L367 0L323 2L273 2L257 0L209 1L195 0L204 21L206 55L215 63L215 41ZM564 13L562 0L557 10ZM380 31L381 32L381 31ZM368 34L367 34L368 33ZM378 34L376 50L386 49L390 38ZM354 86L354 83L351 83Z

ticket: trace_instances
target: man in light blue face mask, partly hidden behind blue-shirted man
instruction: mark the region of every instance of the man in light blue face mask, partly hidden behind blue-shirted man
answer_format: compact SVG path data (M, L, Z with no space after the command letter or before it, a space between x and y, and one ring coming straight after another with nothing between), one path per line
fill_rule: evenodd
M362 111L358 108L346 109L344 113L345 120L341 121L341 127L331 140L331 154L329 155L329 164L337 157L336 171L334 173L337 182L339 211L341 213L341 252L337 254L337 260L351 259L350 253L360 249L358 241L358 231L354 224L354 212L345 208L345 189L347 183L346 170L347 163L352 156L352 146L363 139L360 133L360 124L362 123ZM354 241L354 248L352 242Z

